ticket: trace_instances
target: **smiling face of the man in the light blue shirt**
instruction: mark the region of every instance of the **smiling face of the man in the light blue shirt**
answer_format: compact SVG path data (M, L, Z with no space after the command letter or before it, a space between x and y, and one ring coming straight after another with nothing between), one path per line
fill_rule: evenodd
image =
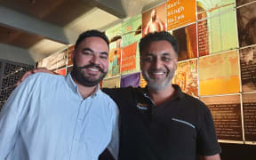
M108 44L100 37L86 37L72 52L71 75L84 86L100 83L108 73Z

